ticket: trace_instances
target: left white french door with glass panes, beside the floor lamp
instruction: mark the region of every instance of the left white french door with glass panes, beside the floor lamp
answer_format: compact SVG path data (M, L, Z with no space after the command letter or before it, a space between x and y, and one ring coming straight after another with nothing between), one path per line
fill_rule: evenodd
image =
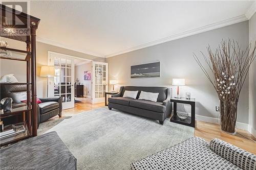
M62 109L74 107L74 58L67 55L48 52L49 65L54 66L55 76L49 84L50 96L62 97Z

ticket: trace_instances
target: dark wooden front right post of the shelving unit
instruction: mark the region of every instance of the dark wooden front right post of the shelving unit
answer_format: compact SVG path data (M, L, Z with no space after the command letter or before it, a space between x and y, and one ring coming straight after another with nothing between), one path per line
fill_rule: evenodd
M36 104L36 29L31 28L31 98L32 98L32 135L37 136Z

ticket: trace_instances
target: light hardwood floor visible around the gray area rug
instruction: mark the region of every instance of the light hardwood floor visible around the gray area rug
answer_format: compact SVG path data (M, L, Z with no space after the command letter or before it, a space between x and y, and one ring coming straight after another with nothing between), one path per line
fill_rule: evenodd
M86 98L77 98L77 100L81 101L81 103L76 103L75 108L63 110L62 116L69 116L104 106L104 103L90 104L90 100ZM54 118L58 117L55 116ZM166 123L168 122L165 121L165 124ZM221 132L219 125L197 121L195 136L202 137L207 141L213 138L219 138L256 155L256 142L254 142L256 139L249 132L244 130L238 129L236 135L229 135Z

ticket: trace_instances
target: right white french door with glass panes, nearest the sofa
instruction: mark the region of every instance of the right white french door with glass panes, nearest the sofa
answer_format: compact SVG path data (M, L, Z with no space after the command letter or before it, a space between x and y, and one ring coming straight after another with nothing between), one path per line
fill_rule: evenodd
M108 92L108 63L92 62L92 104L103 103Z

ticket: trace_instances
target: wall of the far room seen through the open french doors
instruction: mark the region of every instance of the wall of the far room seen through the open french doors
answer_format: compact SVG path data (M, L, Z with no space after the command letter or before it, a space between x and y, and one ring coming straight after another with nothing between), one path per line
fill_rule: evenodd
M83 95L91 96L92 93L92 80L84 80L84 71L92 72L92 62L75 66L75 80L78 79L83 84Z

